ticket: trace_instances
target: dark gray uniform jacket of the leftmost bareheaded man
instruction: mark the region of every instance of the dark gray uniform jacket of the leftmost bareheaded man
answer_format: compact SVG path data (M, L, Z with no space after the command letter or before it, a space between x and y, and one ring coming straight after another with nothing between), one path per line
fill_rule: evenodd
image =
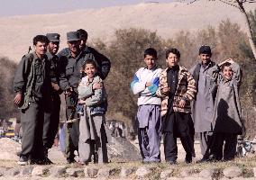
M23 94L21 109L26 109L29 102L50 99L50 61L47 56L40 59L35 52L23 56L14 76L14 92Z

